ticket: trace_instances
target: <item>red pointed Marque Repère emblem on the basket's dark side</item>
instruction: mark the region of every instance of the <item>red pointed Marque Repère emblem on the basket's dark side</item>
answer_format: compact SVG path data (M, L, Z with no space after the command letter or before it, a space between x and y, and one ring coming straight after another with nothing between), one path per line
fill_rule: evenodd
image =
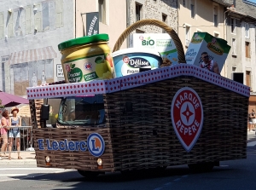
M174 95L171 107L172 126L178 140L189 152L201 134L203 107L194 89L183 87Z

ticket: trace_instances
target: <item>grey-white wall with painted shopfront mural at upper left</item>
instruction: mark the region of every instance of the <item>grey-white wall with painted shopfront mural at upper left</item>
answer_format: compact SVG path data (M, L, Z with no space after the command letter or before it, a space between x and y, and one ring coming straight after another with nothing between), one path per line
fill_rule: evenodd
M12 9L11 13L9 13L9 9ZM61 79L56 77L56 64L61 64L61 54L57 45L73 38L73 13L73 0L0 0L0 56L14 60L14 56L10 57L10 55L16 55L15 61L9 60L4 64L6 92L26 96L24 88L26 89L26 84L30 83L32 73L27 72L24 68L20 70L23 73L17 73L14 68L26 60L34 60L33 53L35 52L38 55L38 61L33 62L34 65L30 63L30 66L35 66L35 70L37 70L37 64L44 64L46 69L49 69L48 66L52 66L51 80ZM1 28L1 26L3 27ZM35 28L37 28L37 32L35 32ZM47 66L44 57L44 54L48 53L44 52L46 47L52 47L55 51L53 61L47 60L49 63ZM28 57L25 59L25 56ZM26 65L26 63L24 64ZM27 68L29 69L28 66ZM20 83L14 81L17 74L20 74ZM0 64L0 90L3 90L2 79L2 64Z

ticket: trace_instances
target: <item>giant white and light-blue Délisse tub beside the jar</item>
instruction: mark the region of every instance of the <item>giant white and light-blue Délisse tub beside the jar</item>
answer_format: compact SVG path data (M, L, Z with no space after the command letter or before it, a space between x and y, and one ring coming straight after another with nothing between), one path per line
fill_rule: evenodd
M115 77L119 78L160 68L162 58L156 51L131 48L113 52L113 62Z

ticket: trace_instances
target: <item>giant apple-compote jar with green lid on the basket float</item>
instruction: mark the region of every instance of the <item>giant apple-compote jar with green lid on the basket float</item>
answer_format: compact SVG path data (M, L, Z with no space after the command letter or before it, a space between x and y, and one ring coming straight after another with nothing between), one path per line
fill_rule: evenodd
M66 83L113 78L114 64L108 40L108 34L96 34L58 45Z

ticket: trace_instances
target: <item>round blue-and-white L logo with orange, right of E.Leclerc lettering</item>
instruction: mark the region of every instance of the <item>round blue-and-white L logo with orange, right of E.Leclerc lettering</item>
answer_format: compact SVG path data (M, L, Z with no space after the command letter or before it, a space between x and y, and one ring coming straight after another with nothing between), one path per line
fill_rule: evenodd
M89 152L95 156L102 156L105 150L105 141L102 138L102 135L97 133L92 133L87 138L87 145Z

